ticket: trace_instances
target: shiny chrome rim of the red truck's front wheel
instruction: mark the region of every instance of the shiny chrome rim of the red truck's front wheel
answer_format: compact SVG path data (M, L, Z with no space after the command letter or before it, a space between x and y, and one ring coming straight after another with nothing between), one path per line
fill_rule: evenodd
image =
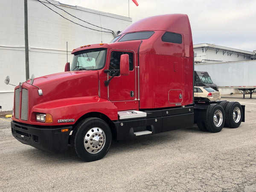
M105 143L105 133L99 127L91 128L84 136L84 148L91 154L101 151Z

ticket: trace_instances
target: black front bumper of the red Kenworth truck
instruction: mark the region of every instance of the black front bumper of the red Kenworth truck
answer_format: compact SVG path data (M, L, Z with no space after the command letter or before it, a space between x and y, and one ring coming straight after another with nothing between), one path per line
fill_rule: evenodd
M72 125L47 127L12 121L11 128L13 137L21 143L43 151L62 152L67 150ZM69 131L61 132L61 129Z

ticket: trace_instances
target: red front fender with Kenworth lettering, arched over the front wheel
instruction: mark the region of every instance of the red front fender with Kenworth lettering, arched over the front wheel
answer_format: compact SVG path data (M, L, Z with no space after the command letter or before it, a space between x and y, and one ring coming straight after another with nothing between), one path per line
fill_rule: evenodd
M105 114L109 119L117 120L117 108L108 100L101 99L99 96L75 97L58 99L35 105L32 108L30 123L34 125L72 125L83 116L90 112ZM49 113L52 115L52 123L36 121L36 113Z

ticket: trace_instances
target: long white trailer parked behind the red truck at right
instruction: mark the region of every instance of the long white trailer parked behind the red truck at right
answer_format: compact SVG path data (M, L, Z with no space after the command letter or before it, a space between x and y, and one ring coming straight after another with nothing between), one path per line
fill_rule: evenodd
M221 93L239 90L252 97L256 89L256 60L195 64L196 71L207 71Z

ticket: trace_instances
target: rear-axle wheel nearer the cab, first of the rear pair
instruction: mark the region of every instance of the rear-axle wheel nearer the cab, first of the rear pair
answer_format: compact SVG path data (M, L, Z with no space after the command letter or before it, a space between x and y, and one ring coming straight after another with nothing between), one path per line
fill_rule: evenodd
M225 113L224 109L219 104L211 104L206 114L206 128L208 131L217 133L220 132L224 126Z

